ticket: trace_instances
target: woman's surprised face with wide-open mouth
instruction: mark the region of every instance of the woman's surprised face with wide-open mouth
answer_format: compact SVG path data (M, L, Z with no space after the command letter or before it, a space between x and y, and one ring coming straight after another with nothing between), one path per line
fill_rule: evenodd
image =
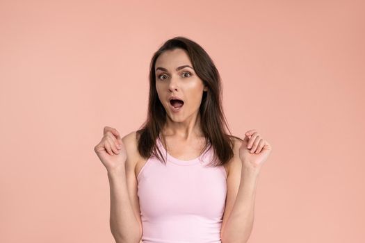
M174 49L161 53L155 63L155 73L157 94L167 115L177 122L197 115L207 87L195 73L186 51ZM184 101L183 106L181 102L170 103L171 97Z

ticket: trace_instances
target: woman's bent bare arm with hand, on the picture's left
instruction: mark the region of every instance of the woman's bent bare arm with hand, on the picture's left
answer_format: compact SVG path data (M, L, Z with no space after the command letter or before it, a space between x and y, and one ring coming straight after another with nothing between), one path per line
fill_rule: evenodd
M139 160L136 132L121 138L117 129L105 126L102 140L94 151L108 172L111 233L117 243L139 243L143 228L134 171Z

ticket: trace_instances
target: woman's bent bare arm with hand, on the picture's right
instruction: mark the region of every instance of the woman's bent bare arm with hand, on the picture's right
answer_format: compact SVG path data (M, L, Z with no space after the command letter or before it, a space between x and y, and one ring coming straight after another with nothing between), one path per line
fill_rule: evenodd
M270 144L256 130L246 132L244 140L236 141L235 145L227 177L222 243L248 241L254 224L254 198L259 172L272 151Z

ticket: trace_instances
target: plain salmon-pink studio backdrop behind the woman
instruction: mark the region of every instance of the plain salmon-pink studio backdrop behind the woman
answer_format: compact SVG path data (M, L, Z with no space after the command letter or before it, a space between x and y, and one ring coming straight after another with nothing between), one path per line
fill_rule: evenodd
M364 1L0 1L0 242L114 242L104 126L147 112L170 37L222 76L234 135L273 146L249 242L364 242Z

